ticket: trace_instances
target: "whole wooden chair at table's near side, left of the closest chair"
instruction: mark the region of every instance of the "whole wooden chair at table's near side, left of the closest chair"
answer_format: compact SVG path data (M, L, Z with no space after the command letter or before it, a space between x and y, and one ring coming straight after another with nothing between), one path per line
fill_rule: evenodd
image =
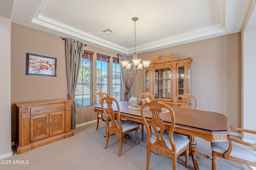
M107 104L107 110L104 108L104 103ZM110 117L110 121L106 119L106 145L105 149L108 146L108 139L111 135L110 133L114 133L119 135L119 153L118 156L121 154L122 150L122 144L123 144L123 135L135 131L136 136L136 145L138 145L138 124L132 121L124 120L120 118L120 107L118 104L118 101L115 98L111 98L110 96L107 96L105 98L102 98L101 103L102 109L104 111L104 114L106 117ZM117 113L114 112L114 108L117 108ZM116 117L116 119L115 119Z

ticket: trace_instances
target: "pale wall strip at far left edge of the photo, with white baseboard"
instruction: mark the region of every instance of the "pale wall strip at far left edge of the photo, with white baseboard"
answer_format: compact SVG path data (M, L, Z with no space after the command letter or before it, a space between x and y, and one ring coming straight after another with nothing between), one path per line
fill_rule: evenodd
M12 156L11 147L11 20L0 16L0 160ZM1 166L1 165L0 165Z

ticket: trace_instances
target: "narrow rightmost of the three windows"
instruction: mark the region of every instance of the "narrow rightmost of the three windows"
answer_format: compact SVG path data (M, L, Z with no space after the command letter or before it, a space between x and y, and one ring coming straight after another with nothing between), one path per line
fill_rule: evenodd
M121 101L121 73L120 73L120 65L119 60L113 57L113 98L117 101Z

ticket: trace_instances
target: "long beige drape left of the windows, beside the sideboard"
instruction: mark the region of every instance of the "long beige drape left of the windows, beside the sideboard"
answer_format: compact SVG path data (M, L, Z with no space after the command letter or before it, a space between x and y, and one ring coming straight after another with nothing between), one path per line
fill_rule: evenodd
M71 129L76 128L76 107L74 98L76 94L76 85L80 70L80 63L82 55L84 54L84 43L74 39L66 39L66 70L67 70L67 83L68 83L68 98L73 100L71 106Z

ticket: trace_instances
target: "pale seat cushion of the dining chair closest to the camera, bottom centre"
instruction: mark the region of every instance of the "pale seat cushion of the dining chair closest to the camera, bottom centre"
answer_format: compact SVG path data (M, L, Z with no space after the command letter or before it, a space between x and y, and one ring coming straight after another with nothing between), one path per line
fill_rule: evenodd
M158 133L159 133L159 131L158 131ZM159 139L161 139L160 136L159 136ZM184 137L182 135L178 135L175 133L173 133L173 140L176 145L176 153L178 153L181 149L186 147L186 145L188 145L188 143L189 143L189 139L187 137ZM156 141L156 133L154 133L152 135L152 137L150 138L150 143L153 144L155 141ZM164 131L164 141L165 141L168 149L172 150L172 146L169 141L169 132L168 131Z

